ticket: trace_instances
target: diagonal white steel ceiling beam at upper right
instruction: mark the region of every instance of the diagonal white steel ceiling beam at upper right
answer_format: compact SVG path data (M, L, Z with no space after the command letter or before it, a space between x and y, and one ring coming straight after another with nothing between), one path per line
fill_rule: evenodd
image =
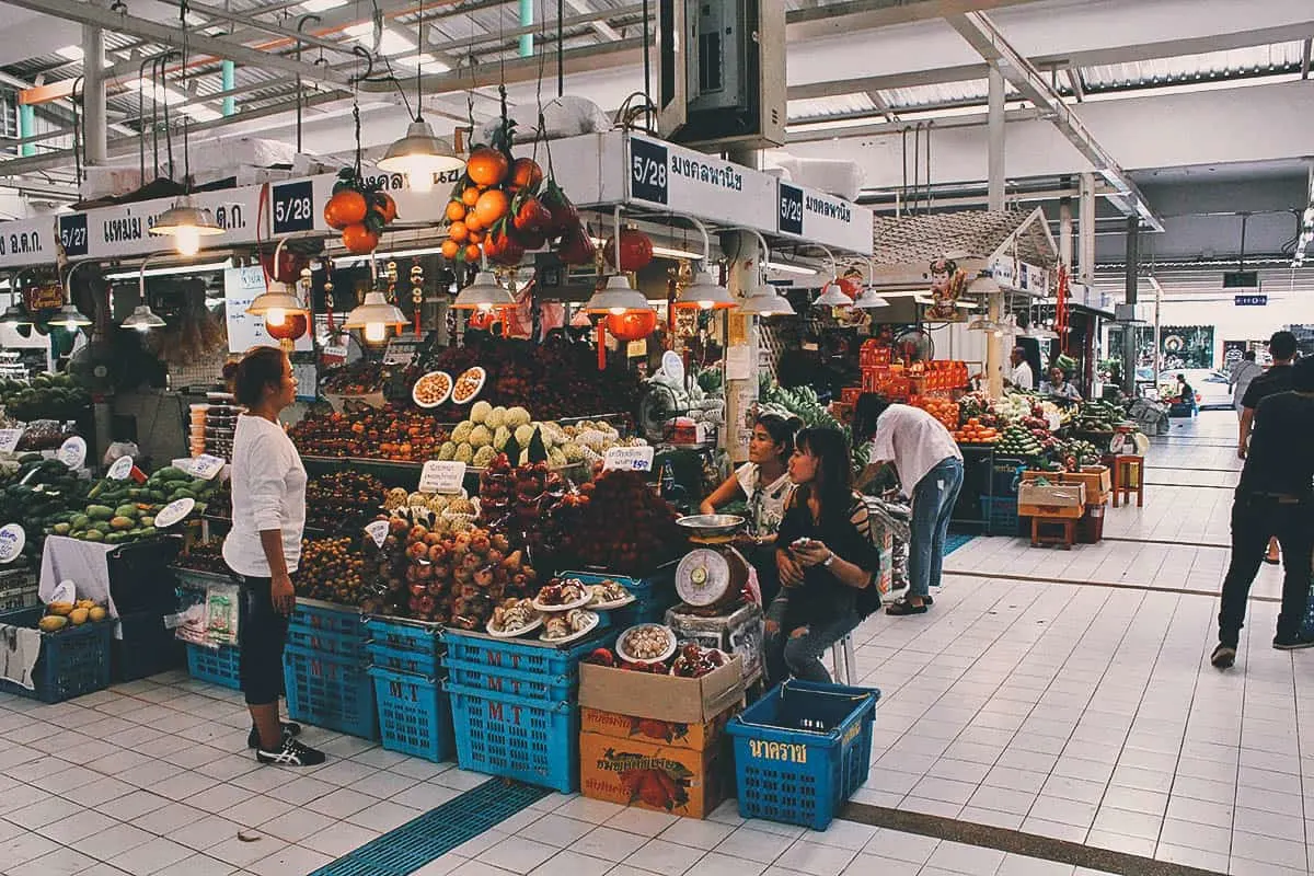
M1063 101L1063 96L1045 80L1043 74L1009 45L1004 34L986 14L968 12L950 16L946 21L982 58L997 64L1013 88L1030 100L1041 110L1042 117L1058 127L1068 142L1095 165L1096 172L1118 189L1120 194L1109 197L1114 205L1129 217L1138 217L1142 223L1155 231L1164 230L1163 222L1150 209L1131 176L1122 169L1113 155L1100 146L1077 114Z

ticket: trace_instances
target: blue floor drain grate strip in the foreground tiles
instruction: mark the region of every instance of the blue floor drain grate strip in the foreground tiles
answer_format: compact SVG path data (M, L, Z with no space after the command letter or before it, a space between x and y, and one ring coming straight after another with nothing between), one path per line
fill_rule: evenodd
M491 779L365 843L311 876L405 876L552 793Z

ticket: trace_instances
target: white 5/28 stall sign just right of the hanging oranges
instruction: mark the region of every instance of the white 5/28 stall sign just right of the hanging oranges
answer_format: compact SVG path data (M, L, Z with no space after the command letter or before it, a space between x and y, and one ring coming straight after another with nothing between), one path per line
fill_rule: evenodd
M631 134L628 201L720 225L774 231L775 177L674 143ZM867 251L871 218L867 214Z

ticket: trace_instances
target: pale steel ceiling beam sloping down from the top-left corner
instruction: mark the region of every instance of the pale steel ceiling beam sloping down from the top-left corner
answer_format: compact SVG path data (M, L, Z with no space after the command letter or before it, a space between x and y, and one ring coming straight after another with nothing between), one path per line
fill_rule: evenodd
M183 30L175 25L159 24L156 21L148 21L146 18L129 14L120 14L108 8L95 7L89 3L79 3L78 0L4 0L4 3L11 7L18 7L20 9L28 9L30 12L41 12L66 21L95 25L97 28L104 28L105 30L113 30L131 37L142 37L151 39L152 42L158 42L162 46L171 46L176 49L183 47ZM322 67L317 67L315 64L302 63L294 58L286 58L277 53L251 49L250 46L243 46L227 39L206 37L198 33L188 33L187 42L189 50L194 50L201 55L214 55L215 58L237 60L252 67L279 70L294 76L301 76L309 81L322 81L330 85L342 87L348 87L351 84L348 74L325 70Z

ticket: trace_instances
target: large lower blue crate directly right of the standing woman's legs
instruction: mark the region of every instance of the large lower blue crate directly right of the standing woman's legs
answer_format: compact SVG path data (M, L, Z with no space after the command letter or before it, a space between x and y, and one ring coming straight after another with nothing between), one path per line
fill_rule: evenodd
M374 683L361 658L289 644L283 649L288 717L363 739L378 739Z

